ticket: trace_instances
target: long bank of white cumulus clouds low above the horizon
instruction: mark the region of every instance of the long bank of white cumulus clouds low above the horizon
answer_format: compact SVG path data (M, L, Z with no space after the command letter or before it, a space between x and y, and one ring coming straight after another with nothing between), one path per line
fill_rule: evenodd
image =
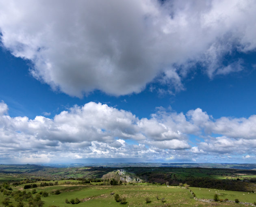
M214 119L200 108L186 114L159 108L151 118L89 102L56 114L10 117L0 103L0 156L9 163L64 162L67 159L133 159L187 162L226 160L255 153L256 115ZM218 136L216 136L218 134ZM197 146L190 135L201 138ZM213 155L216 156L213 158ZM253 156L241 156L241 159Z

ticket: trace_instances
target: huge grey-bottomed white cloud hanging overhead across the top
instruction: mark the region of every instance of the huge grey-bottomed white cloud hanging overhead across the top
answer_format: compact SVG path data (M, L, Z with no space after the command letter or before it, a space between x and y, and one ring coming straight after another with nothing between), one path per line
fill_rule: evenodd
M33 76L72 96L139 93L157 75L182 90L201 63L210 78L233 50L256 48L256 3L240 0L0 2L2 45L31 60Z

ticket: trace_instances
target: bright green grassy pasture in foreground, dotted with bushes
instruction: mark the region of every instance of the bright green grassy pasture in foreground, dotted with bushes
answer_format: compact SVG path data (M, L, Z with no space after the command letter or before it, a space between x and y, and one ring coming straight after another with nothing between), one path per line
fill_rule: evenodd
M21 186L15 187L13 190L21 190ZM120 206L114 199L115 194L119 194L121 197L126 198L126 204L121 206L132 207L155 207L164 206L165 204L171 204L171 206L180 207L204 207L212 206L216 202L206 203L202 201L196 201L188 189L179 188L174 186L161 186L161 185L116 185L116 186L93 186L93 185L55 185L48 187L36 188L38 194L40 191L46 191L49 196L41 197L44 202L43 207L49 207L51 205L56 205L59 207L112 207ZM54 194L56 190L60 190L61 194ZM198 198L213 198L215 191L210 189L201 188L191 188ZM28 189L27 192L32 191ZM115 193L111 195L111 193ZM218 191L217 191L218 192ZM243 202L254 202L256 198L255 194L245 194L243 192L233 192L233 191L219 191L220 198L229 198L229 200L234 200L234 198L239 198L239 201ZM245 195L243 195L245 194ZM159 200L156 198L158 195ZM33 195L35 196L35 194ZM8 196L10 201L15 206L17 201L15 201L11 196ZM145 198L150 199L150 203L146 203ZM2 201L6 196L0 194L0 201ZM82 202L79 204L67 204L65 199L69 201L72 198L79 198ZM164 202L161 198L165 198ZM23 201L24 207L28 207L28 202ZM219 203L219 202L218 202ZM219 203L220 204L220 203ZM221 203L221 206L244 206L242 204L236 203Z

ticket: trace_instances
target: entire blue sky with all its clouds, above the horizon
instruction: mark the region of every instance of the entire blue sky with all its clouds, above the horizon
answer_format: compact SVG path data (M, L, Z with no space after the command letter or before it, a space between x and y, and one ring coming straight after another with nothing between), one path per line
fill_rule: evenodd
M255 163L254 2L0 8L0 163Z

